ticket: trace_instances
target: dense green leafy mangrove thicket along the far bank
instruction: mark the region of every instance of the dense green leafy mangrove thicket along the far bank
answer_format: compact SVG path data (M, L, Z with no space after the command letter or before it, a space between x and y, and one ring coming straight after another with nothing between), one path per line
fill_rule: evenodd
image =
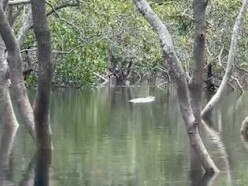
M54 0L47 11L63 3ZM186 71L190 72L194 33L192 1L153 0L150 3L167 24L178 56ZM240 0L214 0L208 6L206 61L212 63L217 77L224 73L220 64L225 66L240 5ZM140 79L167 78L168 70L157 36L135 10L132 1L81 1L78 6L56 10L49 16L49 23L55 58L53 83L56 86L97 86L103 81L101 77L108 78L108 75L118 73L123 73L130 84L137 84ZM247 67L247 45L248 39L242 37L237 59L242 68ZM33 47L36 43L29 35L23 49ZM27 58L25 54L35 58L33 50L23 54L24 59ZM243 71L237 69L235 74L241 77ZM28 86L35 84L35 71L26 82Z

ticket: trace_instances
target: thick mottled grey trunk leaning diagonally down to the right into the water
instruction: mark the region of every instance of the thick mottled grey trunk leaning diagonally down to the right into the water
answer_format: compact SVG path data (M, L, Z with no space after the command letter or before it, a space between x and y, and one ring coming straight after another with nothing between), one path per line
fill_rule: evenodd
M206 172L217 172L218 168L215 166L211 157L209 156L202 139L199 135L198 125L195 122L195 117L192 111L189 89L185 77L185 73L181 66L178 57L175 54L172 38L166 26L159 19L157 14L151 9L146 0L133 0L140 13L148 20L152 28L158 34L161 47L163 49L164 58L169 64L170 70L173 73L173 78L177 84L178 102L182 117L188 131L191 147L194 149L201 165Z

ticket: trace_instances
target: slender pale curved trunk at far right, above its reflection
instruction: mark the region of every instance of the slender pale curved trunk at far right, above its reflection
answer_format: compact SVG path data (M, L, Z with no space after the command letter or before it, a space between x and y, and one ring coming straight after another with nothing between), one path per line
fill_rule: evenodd
M215 93L215 95L212 97L212 99L207 103L207 105L202 110L201 114L203 117L208 112L213 110L214 107L219 103L223 93L226 90L228 81L231 78L232 69L233 69L235 57L237 55L237 50L238 50L238 38L239 38L239 34L243 28L244 16L247 12L247 7L248 7L248 0L243 0L243 4L242 4L241 9L239 11L239 15L238 15L238 17L235 21L234 27L233 27L233 33L232 33L232 39L231 39L230 49L229 49L229 53L228 53L228 60L227 60L227 67L226 67L225 75L223 77L223 80L222 80L217 92Z

